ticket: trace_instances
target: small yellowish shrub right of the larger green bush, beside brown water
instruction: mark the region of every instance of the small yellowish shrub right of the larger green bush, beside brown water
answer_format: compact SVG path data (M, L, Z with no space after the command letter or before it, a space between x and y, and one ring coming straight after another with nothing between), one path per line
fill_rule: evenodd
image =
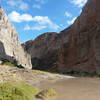
M50 98L50 97L54 97L56 96L57 93L54 89L52 88L48 88L48 89L45 89L45 90L42 90L41 92L39 92L36 97L37 98L41 98L41 99L45 99L45 98Z

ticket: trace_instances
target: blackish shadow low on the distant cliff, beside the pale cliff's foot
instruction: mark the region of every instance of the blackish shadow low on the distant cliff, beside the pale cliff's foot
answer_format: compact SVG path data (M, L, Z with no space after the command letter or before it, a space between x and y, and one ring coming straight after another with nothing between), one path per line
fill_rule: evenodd
M57 72L58 54L56 50L52 50L52 52L44 54L41 58L31 58L33 69Z

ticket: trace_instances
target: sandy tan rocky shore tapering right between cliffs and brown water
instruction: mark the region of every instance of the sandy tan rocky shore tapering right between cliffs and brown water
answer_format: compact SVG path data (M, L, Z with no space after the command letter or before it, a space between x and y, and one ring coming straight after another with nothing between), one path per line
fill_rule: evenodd
M0 82L9 80L25 81L29 84L37 84L44 80L57 80L74 78L72 76L52 74L49 72L43 72L30 69L19 69L17 67L10 67L0 65Z

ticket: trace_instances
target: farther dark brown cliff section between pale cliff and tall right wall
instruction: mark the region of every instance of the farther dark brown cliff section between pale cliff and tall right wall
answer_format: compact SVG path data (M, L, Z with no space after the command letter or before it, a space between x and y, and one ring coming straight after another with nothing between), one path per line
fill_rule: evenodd
M32 65L37 69L48 70L57 60L57 33L44 33L35 40L26 42L24 48L31 54ZM56 51L57 50L57 51ZM40 67L42 66L42 67Z

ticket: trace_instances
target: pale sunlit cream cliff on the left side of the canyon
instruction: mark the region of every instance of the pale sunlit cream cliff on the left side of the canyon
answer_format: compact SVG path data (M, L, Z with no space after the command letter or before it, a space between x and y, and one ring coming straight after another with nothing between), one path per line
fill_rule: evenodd
M16 29L8 21L7 15L0 7L0 58L17 62L19 65L31 68L31 58L23 50Z

